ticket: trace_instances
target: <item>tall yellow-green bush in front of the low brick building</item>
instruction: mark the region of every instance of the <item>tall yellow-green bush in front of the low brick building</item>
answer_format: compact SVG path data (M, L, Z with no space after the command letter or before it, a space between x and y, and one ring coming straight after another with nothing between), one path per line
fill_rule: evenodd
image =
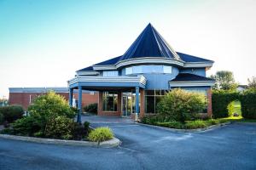
M33 101L33 105L28 107L28 111L32 116L38 115L45 119L56 116L69 118L75 116L75 112L69 107L67 100L54 92L39 96Z

